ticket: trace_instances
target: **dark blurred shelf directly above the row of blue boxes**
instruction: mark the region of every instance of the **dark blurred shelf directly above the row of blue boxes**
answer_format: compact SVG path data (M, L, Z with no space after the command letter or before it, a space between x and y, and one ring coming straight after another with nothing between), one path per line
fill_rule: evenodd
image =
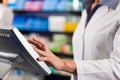
M24 15L34 15L40 17L48 17L50 15L64 15L64 16L81 16L80 11L18 11L14 10L14 13Z

